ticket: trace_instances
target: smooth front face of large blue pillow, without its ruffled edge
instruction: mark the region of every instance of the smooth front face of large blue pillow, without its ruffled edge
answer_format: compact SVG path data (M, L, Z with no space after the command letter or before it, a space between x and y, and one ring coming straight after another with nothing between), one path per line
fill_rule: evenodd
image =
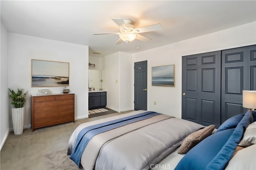
M214 133L198 143L180 160L175 170L203 170L222 149L235 128Z

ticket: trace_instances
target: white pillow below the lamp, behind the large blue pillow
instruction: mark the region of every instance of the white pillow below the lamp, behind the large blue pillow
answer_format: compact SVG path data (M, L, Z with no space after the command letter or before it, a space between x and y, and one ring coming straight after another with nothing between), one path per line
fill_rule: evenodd
M248 147L256 144L256 121L251 123L244 132L244 137L238 144L240 147Z

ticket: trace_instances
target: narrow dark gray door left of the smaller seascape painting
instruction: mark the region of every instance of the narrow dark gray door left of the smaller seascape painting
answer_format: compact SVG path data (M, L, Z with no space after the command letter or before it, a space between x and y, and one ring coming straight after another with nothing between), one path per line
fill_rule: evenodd
M134 63L134 110L147 110L147 61Z

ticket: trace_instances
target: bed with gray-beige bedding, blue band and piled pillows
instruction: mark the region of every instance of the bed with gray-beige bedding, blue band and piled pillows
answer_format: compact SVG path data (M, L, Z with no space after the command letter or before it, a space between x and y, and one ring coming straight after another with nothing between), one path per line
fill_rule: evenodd
M215 160L215 157L222 159L218 154L222 148L225 149L226 147L225 141L221 145L216 145L217 143L214 142L223 136L226 136L226 141L231 140L233 142L233 133L239 133L241 139L245 131L244 127L251 123L249 113L241 114L238 118L239 121L237 120L236 125L231 123L232 126L220 126L222 130L218 128L217 132L212 134L214 125L204 127L192 121L153 111L133 111L79 125L68 142L68 155L80 169L86 170L175 168L180 170L188 169L188 167L190 169L202 169L202 167L212 169L216 164L219 164L218 161L212 162L212 160ZM226 133L226 131L228 132ZM239 135L238 137L236 135L236 138L239 138ZM209 139L209 137L217 139ZM235 140L237 144L235 144L236 146L232 145L232 148L236 149L240 139L239 141ZM216 149L211 145L219 147ZM229 167L234 169L233 165L238 161L233 160L238 159L239 155L243 155L242 152L248 154L248 150L255 151L255 146L250 144L245 149L229 151L232 153L229 154L226 162L222 162L223 167L215 169L229 169ZM188 147L191 148L188 149ZM208 149L210 147L210 152L204 147L208 147ZM253 147L254 149L252 149ZM198 150L200 150L199 157ZM211 153L212 150L214 153ZM186 151L186 153L181 151ZM202 157L207 157L209 153L211 156L208 156L208 162L204 161L204 164L200 164L201 167L195 163L195 160L202 162ZM256 154L255 152L250 154L252 155L251 158L254 158L254 163L249 162L246 167L247 169L250 167L256 169ZM245 156L245 158L248 157Z

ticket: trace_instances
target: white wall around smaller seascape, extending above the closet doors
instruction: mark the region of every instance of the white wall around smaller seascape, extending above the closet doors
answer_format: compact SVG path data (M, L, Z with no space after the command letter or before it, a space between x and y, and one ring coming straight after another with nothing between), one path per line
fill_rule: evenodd
M252 22L133 54L134 62L148 61L148 110L181 118L182 56L254 45L255 30L256 22ZM152 66L168 64L175 64L175 87L152 86Z

